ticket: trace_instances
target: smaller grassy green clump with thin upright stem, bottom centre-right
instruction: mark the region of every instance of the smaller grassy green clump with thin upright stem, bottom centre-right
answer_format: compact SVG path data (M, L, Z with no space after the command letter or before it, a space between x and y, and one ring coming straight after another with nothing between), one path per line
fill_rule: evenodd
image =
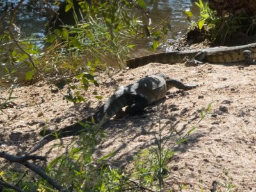
M154 188L162 191L162 189L164 189L164 177L166 177L166 174L169 172L167 164L175 154L175 151L172 151L172 149L176 145L186 142L188 140L188 136L194 130L195 127L189 130L184 136L180 136L179 140L177 140L172 146L167 146L166 142L168 140L164 141L162 138L163 130L159 121L158 138L155 135L156 147L144 149L134 157L134 173L132 177L139 180L140 184L150 187L154 186ZM175 132L175 127L172 127L170 136L173 132Z

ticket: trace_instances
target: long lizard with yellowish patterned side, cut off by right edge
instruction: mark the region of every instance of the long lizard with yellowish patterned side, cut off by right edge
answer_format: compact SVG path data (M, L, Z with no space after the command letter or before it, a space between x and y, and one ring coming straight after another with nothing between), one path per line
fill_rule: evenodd
M148 63L183 63L184 58L193 63L228 63L244 61L246 65L255 65L256 43L234 47L212 47L193 51L173 51L151 54L127 60L127 67L136 68Z

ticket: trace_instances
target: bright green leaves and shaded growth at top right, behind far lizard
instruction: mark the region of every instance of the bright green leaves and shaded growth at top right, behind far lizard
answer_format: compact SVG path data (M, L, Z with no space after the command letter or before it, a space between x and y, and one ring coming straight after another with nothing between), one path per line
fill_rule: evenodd
M231 35L237 32L246 35L255 35L256 33L256 15L229 14L223 17L218 17L216 11L209 8L208 2L204 4L202 0L198 0L195 4L200 8L200 17L198 22L193 23L193 26L196 26L199 30L204 29L202 33L206 33L204 36L210 36L212 42L220 42L221 44L224 44L225 40L228 40ZM185 13L188 16L188 19L193 17L191 12Z

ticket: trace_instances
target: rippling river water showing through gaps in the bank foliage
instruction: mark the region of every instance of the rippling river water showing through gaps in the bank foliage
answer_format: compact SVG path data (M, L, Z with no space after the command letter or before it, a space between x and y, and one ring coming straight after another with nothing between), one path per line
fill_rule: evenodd
M44 36L45 31L45 23L47 22L46 17L40 16L40 10L33 9L29 2L31 0L24 1L24 4L22 4L22 12L19 12L19 15L17 15L19 20L15 21L15 24L17 24L18 27L20 27L20 31L22 31L22 36L30 36L33 35L35 38L42 38ZM19 1L12 0L8 1L9 3L17 3ZM34 3L38 3L38 1L31 1ZM0 0L0 15L3 13L3 8L5 4L5 0ZM35 6L35 4L32 6ZM152 18L152 26L156 26L161 22L163 19L166 19L168 23L170 23L170 26L172 27L172 30L168 33L168 40L172 42L172 40L178 38L179 36L183 35L186 32L186 29L190 25L186 13L184 13L185 10L189 10L193 13L195 17L193 19L196 19L199 14L199 8L195 5L195 1L192 0L159 0L154 1L152 6L148 7L150 10L150 17ZM7 21L8 19L6 19ZM5 23L7 25L7 22ZM148 51L148 47L150 47L150 42L147 39L141 40L138 42L138 49L134 52L134 57L141 56L143 54L150 54L152 52ZM19 64L17 64L19 65ZM5 73L4 67L6 66L6 63L0 63L0 77ZM12 68L15 68L17 66L12 66ZM19 70L15 74L15 76L20 76L19 79L22 77L24 78L24 73L26 71L26 68L23 68L22 70ZM13 79L5 79L0 80L0 86L8 86L13 83Z

